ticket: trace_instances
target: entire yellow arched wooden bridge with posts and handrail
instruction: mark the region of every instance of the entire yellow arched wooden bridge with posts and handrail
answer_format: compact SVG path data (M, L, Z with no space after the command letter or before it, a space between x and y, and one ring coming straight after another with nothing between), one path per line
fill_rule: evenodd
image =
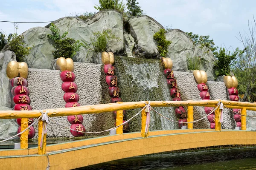
M221 130L220 102L227 108L241 108L241 130ZM148 102L146 102L148 103ZM204 101L156 101L151 107L188 106L188 122L193 122L193 106L217 107L215 110L215 129L193 129L192 123L186 130L156 130L145 135L145 108L142 111L141 132L122 134L122 126L116 135L83 139L74 142L49 144L46 134L41 136L43 121L38 121L38 147L28 148L27 134L20 137L22 149L0 150L1 169L46 169L65 170L85 167L132 156L162 153L198 147L222 145L256 144L256 131L246 130L246 110L256 111L256 103L232 102L224 100ZM89 105L77 108L48 110L48 116L68 116L77 114L104 113L117 111L116 125L122 124L122 110L143 108L144 102L119 102L102 105ZM46 112L44 110L44 112ZM22 118L22 128L28 127L28 118L38 118L40 111L0 111L0 119ZM216 123L218 122L218 123ZM41 139L43 146L40 147Z

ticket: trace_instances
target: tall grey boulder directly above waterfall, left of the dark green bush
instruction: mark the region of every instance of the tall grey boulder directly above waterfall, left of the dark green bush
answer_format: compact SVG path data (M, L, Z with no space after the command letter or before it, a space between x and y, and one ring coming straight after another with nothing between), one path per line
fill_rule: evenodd
M153 36L163 26L147 15L131 18L128 20L130 32L136 42L134 52L139 57L157 58L160 57L157 44Z

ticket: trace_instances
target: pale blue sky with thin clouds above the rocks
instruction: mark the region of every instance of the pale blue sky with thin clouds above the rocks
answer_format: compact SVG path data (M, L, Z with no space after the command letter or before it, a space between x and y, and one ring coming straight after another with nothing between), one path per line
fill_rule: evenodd
M126 0L124 0L126 3ZM239 31L248 33L248 20L256 15L256 0L138 0L148 16L157 20L164 27L172 26L185 32L209 35L215 45L227 48L232 45L242 48L237 40ZM40 22L85 11L97 11L93 8L99 0L2 0L0 20ZM18 25L18 34L41 24ZM14 32L12 23L1 23L0 31L7 34ZM230 48L232 51L232 48Z

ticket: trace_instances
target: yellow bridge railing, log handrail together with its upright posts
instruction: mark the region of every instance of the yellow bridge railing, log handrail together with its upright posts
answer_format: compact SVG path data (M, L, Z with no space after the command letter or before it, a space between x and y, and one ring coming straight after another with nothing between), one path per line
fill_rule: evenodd
M116 126L122 124L122 111L136 108L143 108L142 114L142 127L141 134L142 137L147 137L145 135L145 122L146 122L146 112L145 112L145 103L148 104L148 101L142 102L117 102L101 105L87 105L80 106L76 108L56 108L43 110L43 112L48 112L49 117L55 116L72 116L78 114L93 114L93 113L105 113L111 111L117 111L116 115ZM179 107L187 106L188 107L188 128L193 128L193 106L206 106L206 107L218 107L222 103L227 108L239 108L241 109L241 130L246 130L246 110L256 111L256 103L249 102L233 102L226 100L202 100L202 101L151 101L151 107ZM39 118L42 113L38 110L33 111L0 111L0 119L17 119L22 118L21 120L21 131L25 130L28 127L28 118ZM215 110L215 130L221 130L220 119L220 107ZM28 130L26 130L28 131ZM25 132L26 132L25 131ZM43 131L43 120L38 121L38 154L46 154L46 134L42 133ZM122 126L117 127L116 134L122 134ZM20 145L22 149L28 148L28 132L22 133L20 136ZM42 144L41 144L42 140ZM40 146L41 144L41 146Z

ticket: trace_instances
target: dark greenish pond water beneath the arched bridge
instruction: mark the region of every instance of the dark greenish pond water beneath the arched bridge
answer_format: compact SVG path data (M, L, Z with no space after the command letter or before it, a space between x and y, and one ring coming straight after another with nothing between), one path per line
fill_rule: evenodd
M227 170L256 169L256 147L198 150L137 156L79 170Z

